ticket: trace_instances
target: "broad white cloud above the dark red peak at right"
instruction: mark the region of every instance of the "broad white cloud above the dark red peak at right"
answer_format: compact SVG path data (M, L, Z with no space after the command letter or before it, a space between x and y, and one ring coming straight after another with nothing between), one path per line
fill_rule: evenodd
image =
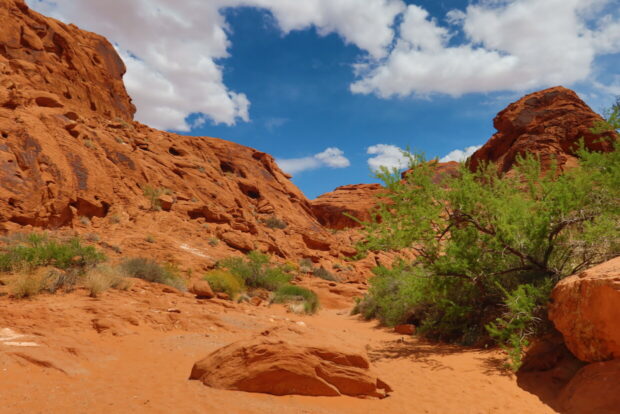
M614 1L479 1L448 13L443 26L409 5L389 56L358 65L351 90L459 96L585 80L597 55L620 51L619 17L600 16ZM459 33L464 41L454 40Z

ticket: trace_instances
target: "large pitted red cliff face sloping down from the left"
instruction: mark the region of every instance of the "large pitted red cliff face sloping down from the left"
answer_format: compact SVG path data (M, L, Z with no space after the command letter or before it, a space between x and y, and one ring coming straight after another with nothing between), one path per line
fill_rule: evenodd
M0 0L0 22L0 231L69 228L198 267L252 249L316 263L354 253L270 155L134 122L103 37L21 0Z

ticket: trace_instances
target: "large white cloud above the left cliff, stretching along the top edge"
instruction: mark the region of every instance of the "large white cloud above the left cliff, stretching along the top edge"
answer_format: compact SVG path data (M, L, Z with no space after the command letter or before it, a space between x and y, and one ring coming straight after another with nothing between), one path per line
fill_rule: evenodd
M223 80L229 56L221 11L259 7L272 13L283 33L314 26L339 34L369 56L384 57L394 37L401 0L28 0L34 9L101 33L127 64L125 82L136 119L161 129L188 131L190 114L233 125L250 118L250 101Z

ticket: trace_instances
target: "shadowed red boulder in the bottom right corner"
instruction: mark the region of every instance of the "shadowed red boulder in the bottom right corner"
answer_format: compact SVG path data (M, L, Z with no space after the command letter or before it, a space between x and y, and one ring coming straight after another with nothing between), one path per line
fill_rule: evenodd
M562 390L559 406L564 414L620 412L620 359L583 367Z

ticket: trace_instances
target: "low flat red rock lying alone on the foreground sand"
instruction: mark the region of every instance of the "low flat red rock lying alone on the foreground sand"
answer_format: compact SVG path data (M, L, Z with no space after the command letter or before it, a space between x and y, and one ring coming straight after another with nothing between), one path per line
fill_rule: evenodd
M218 389L273 395L384 397L389 386L359 353L257 338L194 364L190 379Z

